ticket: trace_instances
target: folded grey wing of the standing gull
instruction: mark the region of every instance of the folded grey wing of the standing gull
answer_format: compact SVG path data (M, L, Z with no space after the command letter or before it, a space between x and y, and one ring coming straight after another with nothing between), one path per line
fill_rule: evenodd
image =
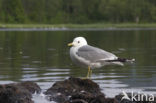
M89 45L80 47L76 54L91 62L117 59L114 54Z

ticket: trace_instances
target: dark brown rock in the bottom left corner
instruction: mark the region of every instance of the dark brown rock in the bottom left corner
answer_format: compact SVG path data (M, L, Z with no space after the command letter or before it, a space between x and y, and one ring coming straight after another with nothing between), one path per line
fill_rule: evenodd
M0 85L0 103L34 103L32 93L40 91L40 87L33 82Z

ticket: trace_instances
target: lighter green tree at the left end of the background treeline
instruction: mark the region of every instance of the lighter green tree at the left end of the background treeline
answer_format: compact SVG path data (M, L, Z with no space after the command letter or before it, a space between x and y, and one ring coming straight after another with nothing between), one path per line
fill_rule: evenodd
M3 0L1 9L6 23L24 23L26 21L21 0Z

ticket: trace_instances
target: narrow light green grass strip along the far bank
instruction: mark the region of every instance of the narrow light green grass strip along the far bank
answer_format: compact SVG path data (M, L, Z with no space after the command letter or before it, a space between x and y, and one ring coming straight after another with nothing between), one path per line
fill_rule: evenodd
M3 24L0 28L156 28L156 23Z

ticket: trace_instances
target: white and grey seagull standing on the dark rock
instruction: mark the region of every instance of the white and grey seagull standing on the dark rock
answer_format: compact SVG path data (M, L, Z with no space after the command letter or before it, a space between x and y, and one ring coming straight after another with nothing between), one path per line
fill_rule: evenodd
M124 62L134 62L135 59L119 58L116 55L102 50L97 47L88 45L84 37L74 38L72 43L69 43L70 58L78 66L88 68L87 78L91 77L92 69L101 68L106 65L121 65Z

